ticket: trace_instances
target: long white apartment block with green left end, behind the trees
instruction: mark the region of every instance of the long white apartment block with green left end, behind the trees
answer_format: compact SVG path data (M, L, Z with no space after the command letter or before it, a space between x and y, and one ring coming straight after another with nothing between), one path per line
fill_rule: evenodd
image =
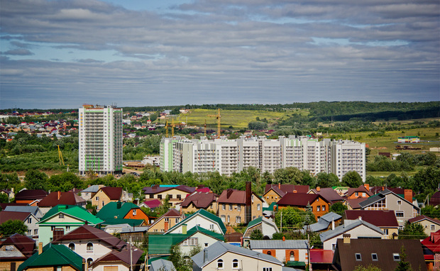
M160 143L160 170L177 172L214 172L231 175L248 167L273 173L285 167L334 173L342 179L356 171L365 182L365 143L351 140L318 140L307 136L264 136L208 140L182 136L163 138Z

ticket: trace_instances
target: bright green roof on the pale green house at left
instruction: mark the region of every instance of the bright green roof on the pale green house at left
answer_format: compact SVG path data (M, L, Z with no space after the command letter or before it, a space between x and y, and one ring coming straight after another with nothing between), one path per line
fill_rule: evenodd
M50 209L41 219L38 224L45 224L45 221L55 216L58 213L66 214L67 216L73 216L81 221L87 221L89 225L97 225L102 223L101 219L98 219L96 216L92 215L81 206L76 205L62 205L59 204L52 209Z

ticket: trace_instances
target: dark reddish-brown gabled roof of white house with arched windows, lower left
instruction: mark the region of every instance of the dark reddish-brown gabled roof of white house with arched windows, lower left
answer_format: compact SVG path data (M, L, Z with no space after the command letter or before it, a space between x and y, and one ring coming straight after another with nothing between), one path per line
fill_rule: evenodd
M66 233L64 236L57 238L53 243L57 244L65 240L102 240L118 250L127 244L123 240L112 236L110 233L106 233L99 228L94 228L89 225L83 225L76 228L74 231L70 231L70 233Z

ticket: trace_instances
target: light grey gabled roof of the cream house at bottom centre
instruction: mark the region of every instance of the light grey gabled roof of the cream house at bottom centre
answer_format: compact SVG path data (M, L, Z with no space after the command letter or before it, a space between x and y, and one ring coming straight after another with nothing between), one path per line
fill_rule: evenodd
M207 252L207 259L204 261L205 251ZM270 255L259 253L253 250L248 250L247 248L241 248L236 245L230 245L221 241L217 241L216 243L209 245L208 248L205 248L196 255L192 256L191 259L193 260L195 265L203 267L204 265L207 265L209 262L212 262L213 260L227 252L246 255L248 257L258 260L264 260L267 262L273 262L275 263L275 265L282 265L282 262Z

